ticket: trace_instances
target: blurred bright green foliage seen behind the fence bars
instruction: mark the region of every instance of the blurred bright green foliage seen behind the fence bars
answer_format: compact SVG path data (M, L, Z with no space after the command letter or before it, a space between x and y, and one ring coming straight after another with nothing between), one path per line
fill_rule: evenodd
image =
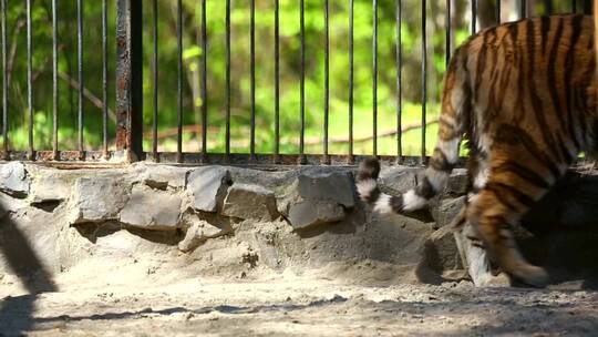
M115 105L115 7L110 2L109 22L109 96L111 111ZM402 67L402 124L421 121L421 22L420 2L403 1L401 40ZM432 3L430 3L432 2ZM440 3L442 2L442 3ZM427 120L439 114L439 96L444 55L444 1L429 1L429 75ZM462 1L458 1L460 3ZM51 2L33 1L33 106L34 143L37 149L52 144L52 39ZM226 1L207 1L208 50L202 50L199 1L184 0L183 17L183 116L189 132L184 134L184 151L200 150L200 121L203 104L207 104L208 151L224 152L226 123ZM231 1L231 150L249 151L250 100L250 17L249 1ZM462 16L465 7L462 6ZM59 70L78 80L76 8L72 1L60 2L59 8ZM153 16L152 8L144 8L144 147L151 149L153 124ZM323 0L306 1L306 151L322 152L324 111L324 21ZM9 120L11 144L27 149L29 125L27 105L27 48L24 6L10 1L9 49L14 48L9 92ZM274 0L256 1L256 146L257 152L270 153L275 146L275 39ZM84 85L102 100L101 1L86 1L84 8ZM379 72L378 72L378 132L396 129L396 22L394 1L379 1ZM455 40L467 37L465 23L455 27ZM280 0L280 135L281 152L297 153L300 136L300 27L298 1ZM330 1L330 139L347 139L349 134L349 1ZM200 99L203 57L207 55L207 102ZM372 3L354 1L354 137L372 134ZM177 39L176 2L158 3L158 134L159 150L176 149L177 123ZM78 139L78 91L61 76L59 79L59 141L62 149L75 149ZM102 110L84 99L84 141L86 149L102 144ZM435 141L435 125L427 127L429 150ZM187 130L186 129L186 130ZM109 121L109 143L114 142L115 121ZM420 153L421 129L403 134L403 153ZM355 153L371 153L372 142L360 141ZM333 143L331 153L346 154L348 143ZM380 154L396 153L396 136L379 139Z

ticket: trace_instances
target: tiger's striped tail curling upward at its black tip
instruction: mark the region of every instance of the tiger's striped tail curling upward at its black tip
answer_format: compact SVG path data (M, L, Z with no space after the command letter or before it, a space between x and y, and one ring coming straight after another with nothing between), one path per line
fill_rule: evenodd
M464 130L464 116L471 110L471 90L466 71L458 61L463 54L455 54L446 78L442 100L442 114L439 125L439 142L425 170L425 175L415 188L402 195L388 195L378 187L380 163L368 159L360 164L357 188L363 202L379 213L402 213L423 208L427 202L442 192L453 167L458 161L458 147Z

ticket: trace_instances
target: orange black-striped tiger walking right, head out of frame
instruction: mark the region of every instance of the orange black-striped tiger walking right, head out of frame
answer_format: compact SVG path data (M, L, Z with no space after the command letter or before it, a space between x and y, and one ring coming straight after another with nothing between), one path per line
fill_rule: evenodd
M597 52L594 19L582 14L523 19L470 37L444 75L439 140L423 177L388 195L377 184L380 163L367 159L357 176L361 200L379 213L425 207L464 141L467 197L453 226L470 276L476 286L545 286L546 270L522 255L513 228L581 152L597 150Z

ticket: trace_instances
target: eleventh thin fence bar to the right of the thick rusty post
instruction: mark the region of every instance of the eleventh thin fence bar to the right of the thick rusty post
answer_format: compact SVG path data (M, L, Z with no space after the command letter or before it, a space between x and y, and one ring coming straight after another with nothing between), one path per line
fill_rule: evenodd
M447 1L450 2L450 0ZM403 3L396 0L396 163L403 161L403 48L401 31Z

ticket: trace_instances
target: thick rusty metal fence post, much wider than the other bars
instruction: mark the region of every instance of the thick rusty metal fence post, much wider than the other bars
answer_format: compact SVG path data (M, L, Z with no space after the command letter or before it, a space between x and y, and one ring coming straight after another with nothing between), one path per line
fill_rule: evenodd
M116 1L116 150L143 159L143 8Z

